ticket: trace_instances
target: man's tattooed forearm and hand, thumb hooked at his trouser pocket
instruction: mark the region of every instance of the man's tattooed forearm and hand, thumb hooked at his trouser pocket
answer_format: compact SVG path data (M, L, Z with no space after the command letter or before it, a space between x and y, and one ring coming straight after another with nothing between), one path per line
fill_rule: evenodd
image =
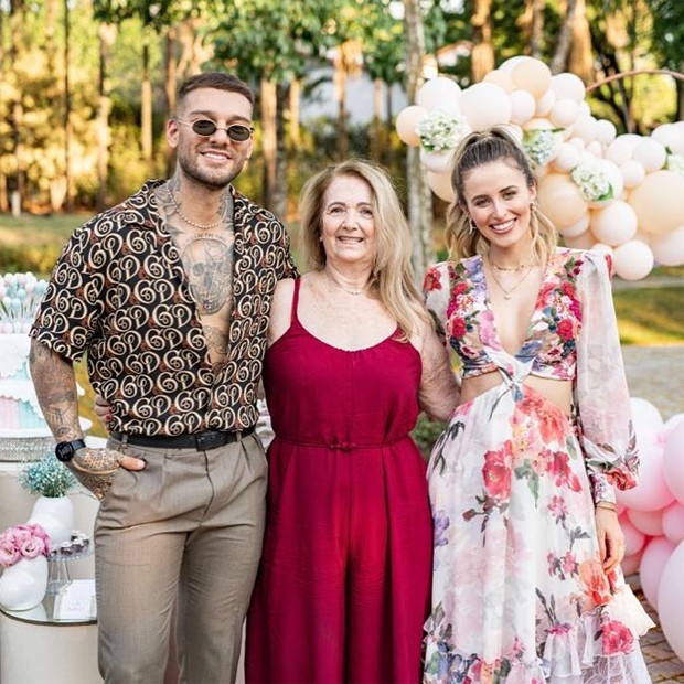
M29 357L31 377L39 404L57 441L83 439L78 424L76 376L71 361L35 340ZM145 461L111 449L78 449L66 463L76 479L98 499L103 499L120 468L142 470Z

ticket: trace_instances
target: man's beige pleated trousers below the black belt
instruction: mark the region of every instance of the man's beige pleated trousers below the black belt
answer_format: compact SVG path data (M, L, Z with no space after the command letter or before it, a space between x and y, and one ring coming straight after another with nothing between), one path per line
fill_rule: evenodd
M147 466L116 474L95 525L105 682L163 682L177 600L180 681L234 682L264 535L259 438L210 451L108 445Z

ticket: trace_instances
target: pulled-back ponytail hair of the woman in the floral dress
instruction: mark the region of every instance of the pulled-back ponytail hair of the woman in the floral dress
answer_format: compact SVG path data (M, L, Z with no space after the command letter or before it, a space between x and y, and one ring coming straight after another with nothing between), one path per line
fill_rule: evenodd
M451 185L456 199L447 212L446 238L450 259L459 260L484 254L489 249L489 241L470 225L470 216L464 210L464 183L473 169L494 161L503 161L514 167L525 177L527 188L536 186L532 162L504 127L498 126L463 138L453 153L451 167ZM530 228L534 258L544 265L556 247L558 234L554 224L538 210L536 202L531 206Z

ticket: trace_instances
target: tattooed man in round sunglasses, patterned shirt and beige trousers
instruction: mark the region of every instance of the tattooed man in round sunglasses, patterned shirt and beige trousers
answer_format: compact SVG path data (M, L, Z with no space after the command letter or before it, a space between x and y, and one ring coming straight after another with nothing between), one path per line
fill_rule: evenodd
M232 682L264 530L255 435L272 291L289 239L231 184L253 150L254 96L204 73L167 124L168 181L78 228L31 330L31 371L56 456L100 499L99 666L110 684L163 681L173 606L181 681ZM89 448L73 362L110 406Z

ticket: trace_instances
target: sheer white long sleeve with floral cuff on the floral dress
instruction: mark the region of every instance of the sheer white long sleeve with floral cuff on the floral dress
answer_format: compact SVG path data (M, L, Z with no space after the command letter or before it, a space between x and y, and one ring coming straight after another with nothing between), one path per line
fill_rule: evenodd
M637 484L639 455L610 287L610 257L585 253L577 278L581 331L575 404L594 501Z

